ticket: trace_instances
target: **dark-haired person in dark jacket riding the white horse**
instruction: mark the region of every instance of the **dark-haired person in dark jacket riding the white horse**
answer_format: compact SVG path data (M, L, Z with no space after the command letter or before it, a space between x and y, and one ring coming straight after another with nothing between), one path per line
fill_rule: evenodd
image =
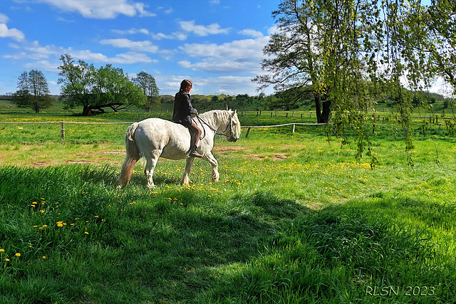
M202 131L199 129L197 124L192 120L191 114L198 115L198 111L192 107L190 102L190 90L192 90L193 84L190 80L182 80L180 83L180 90L176 93L174 98L174 112L172 113L172 120L178 122L190 131L190 157L202 157L197 152L199 137L202 135Z

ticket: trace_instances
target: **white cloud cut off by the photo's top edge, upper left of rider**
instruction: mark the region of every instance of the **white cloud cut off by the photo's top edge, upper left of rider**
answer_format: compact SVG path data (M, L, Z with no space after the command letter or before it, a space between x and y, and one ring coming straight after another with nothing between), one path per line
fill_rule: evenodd
M114 19L118 15L125 16L155 16L145 9L146 5L142 2L132 2L128 0L39 0L40 2L51 4L63 11L76 12L86 18L91 19Z

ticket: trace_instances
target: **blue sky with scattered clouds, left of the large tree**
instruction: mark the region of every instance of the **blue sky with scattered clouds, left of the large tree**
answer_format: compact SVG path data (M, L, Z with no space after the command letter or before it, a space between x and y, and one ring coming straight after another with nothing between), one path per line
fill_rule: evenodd
M144 70L162 94L189 78L193 94L258 95L262 49L279 0L0 0L0 95L24 70L58 94L60 56L96 68ZM272 90L266 89L266 94Z

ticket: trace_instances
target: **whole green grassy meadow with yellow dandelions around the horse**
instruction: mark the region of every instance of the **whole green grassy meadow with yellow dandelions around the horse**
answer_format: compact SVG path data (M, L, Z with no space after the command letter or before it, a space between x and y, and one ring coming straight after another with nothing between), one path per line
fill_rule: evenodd
M114 187L128 124L157 113L0 113L0 303L455 303L455 137L375 127L371 169L321 126L216 138ZM169 113L160 116L169 119ZM239 116L242 125L314 122Z

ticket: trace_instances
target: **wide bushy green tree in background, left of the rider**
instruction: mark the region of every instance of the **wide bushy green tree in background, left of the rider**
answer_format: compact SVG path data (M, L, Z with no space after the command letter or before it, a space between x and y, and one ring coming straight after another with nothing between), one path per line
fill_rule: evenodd
M134 85L121 68L107 64L97 70L93 64L81 60L75 64L68 54L61 56L61 61L58 83L63 83L62 98L68 108L83 106L84 116L104 108L118 112L132 105L144 105L147 100L141 88Z

